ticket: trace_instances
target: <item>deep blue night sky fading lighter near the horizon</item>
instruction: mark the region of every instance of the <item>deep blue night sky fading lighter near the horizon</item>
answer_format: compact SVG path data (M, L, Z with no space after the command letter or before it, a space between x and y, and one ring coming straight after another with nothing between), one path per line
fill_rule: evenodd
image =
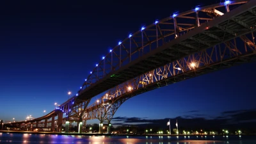
M95 64L129 33L173 12L220 1L201 2L1 1L0 119L52 111L68 91L77 93ZM143 93L114 117L211 119L223 111L255 109L255 66L246 63Z

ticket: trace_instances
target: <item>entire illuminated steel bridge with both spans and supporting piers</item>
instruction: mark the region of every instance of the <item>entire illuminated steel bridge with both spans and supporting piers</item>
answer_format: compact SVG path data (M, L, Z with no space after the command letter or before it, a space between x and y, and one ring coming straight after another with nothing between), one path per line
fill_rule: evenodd
M10 122L27 131L34 127L60 132L86 120L111 125L117 109L141 93L222 68L256 60L256 1L225 1L195 7L156 20L131 33L109 51L85 79L76 95L51 113L33 120ZM102 97L88 106L100 93ZM58 116L58 118L55 118Z

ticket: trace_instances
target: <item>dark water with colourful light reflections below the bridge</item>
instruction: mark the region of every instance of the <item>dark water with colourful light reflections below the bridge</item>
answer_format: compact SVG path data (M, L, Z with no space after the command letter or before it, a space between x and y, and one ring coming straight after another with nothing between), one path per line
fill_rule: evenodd
M253 144L255 136L78 136L58 134L0 133L0 143L74 144Z

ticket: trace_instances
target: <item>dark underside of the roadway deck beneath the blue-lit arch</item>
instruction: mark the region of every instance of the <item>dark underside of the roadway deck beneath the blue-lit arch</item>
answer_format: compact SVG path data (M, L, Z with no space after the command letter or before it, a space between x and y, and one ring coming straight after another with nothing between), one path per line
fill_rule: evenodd
M249 1L248 3L243 4L240 8L236 8L220 17L216 17L214 20L205 22L200 27L189 31L189 33L178 36L170 42L166 42L166 44L157 47L157 49L154 49L147 54L143 54L140 58L120 67L118 70L109 72L109 74L102 79L99 79L84 90L81 90L77 99L91 99L118 84L122 84L129 79L140 76L150 70L154 70L154 68L166 65L166 63L180 60L180 58L188 56L189 54L202 51L213 45L221 44L222 42L237 36L250 33L250 31L255 29L253 26L253 24L255 24L255 19L246 17L246 15L248 15L248 13L251 13L252 15L252 12L253 15L255 14L253 9L255 8L255 3L256 1ZM214 8L219 5L220 4L214 4L202 9ZM193 13L193 10L180 13L177 17L188 15L188 13ZM159 24L170 19L173 18L168 17L164 20L160 20ZM153 25L150 25L147 28L151 28L152 26ZM253 26L253 28L250 28L250 26ZM147 28L145 28L144 31L146 31ZM241 31L241 29L243 29L243 31ZM140 31L137 33L140 33ZM175 33L173 33L173 35L175 35ZM198 47L198 45L200 45L200 47ZM141 49L141 47L138 47L138 49ZM113 75L118 77L111 77ZM83 86L86 86L86 84L87 83L85 82Z

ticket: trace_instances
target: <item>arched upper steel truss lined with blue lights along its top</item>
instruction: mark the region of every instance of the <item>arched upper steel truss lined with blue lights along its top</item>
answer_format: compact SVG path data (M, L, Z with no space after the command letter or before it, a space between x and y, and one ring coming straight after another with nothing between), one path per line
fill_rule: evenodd
M221 22L223 22L223 20L235 19L234 17L236 17L236 15L238 15L239 13L252 9L253 7L252 5L255 2L248 1L248 3L251 3L251 4L247 4L247 5L246 5L246 2L247 1L243 1L243 2L233 1L232 4L230 5L241 5L241 6L239 6L239 8L236 8L234 10L230 10L230 12L228 13L224 13L224 15L221 15L220 17L215 17L214 19L212 18L209 19L209 17L208 16L205 17L204 14L199 15L198 19L200 19L200 27L197 27L197 28L194 27L196 22L191 22L191 20L187 20L188 24L184 24L184 21L186 21L186 19L191 19L191 15L193 13L196 13L195 11L190 10L188 12L179 13L179 15L177 15L176 28L179 28L181 31L179 31L179 38L177 38L177 40L176 39L173 40L175 36L175 33L173 33L173 30L175 30L174 25L176 25L173 22L173 17L168 17L166 19L159 20L156 24L151 24L150 26L145 27L145 29L143 29L142 31L140 30L140 31L137 31L136 33L133 33L131 37L129 36L129 38L123 40L122 42L120 42L120 44L116 45L116 47L114 47L112 51L110 51L106 56L104 56L104 58L102 58L102 61L99 62L99 65L97 65L97 67L95 67L92 70L92 74L90 74L87 77L86 82L84 82L83 84L83 89L78 93L79 99L90 99L95 95L98 95L99 93L108 90L112 86L112 84L108 84L109 83L108 79L111 79L110 77L111 74L118 74L123 70L127 70L128 67L132 67L132 65L135 67L136 63L139 63L141 60L145 60L145 58L149 58L148 56L154 55L155 52L152 52L152 51L155 51L156 49L160 49L159 47L164 47L164 45L166 44L167 44L166 45L167 47L170 47L168 46L168 43L169 44L173 44L175 42L179 43L179 42L182 42L183 38L191 37L192 36L191 33L193 33L193 35L195 33L202 33L203 32L202 29L204 29L205 31L205 24L207 25L209 24L209 30L210 30L212 26L218 26L218 23L220 24ZM225 7L223 3L213 4L211 6L205 6L205 7L202 7L199 10L199 12L205 13L205 10L208 10L209 8L220 8L221 6ZM183 21L180 21L180 19L182 19ZM243 24L246 24L246 22L244 22ZM168 31L164 31L163 33L163 29L166 29L166 28L168 28ZM219 26L219 28L221 28L221 26ZM168 42L168 40L171 40L171 42ZM120 45L122 45L122 49L120 49L121 47ZM193 45L186 45L186 46L187 47L190 46L191 48ZM195 46L193 47L195 48ZM144 51L146 49L150 49L150 50ZM166 49L166 48L163 48L163 49ZM143 55L141 55L142 50L143 50ZM160 51L161 50L157 50L157 52L160 52ZM185 54L189 54L188 53L189 51L183 50L180 52L185 52ZM136 56L138 54L139 54L139 58ZM156 67L160 65L163 65L163 63L159 63L159 65L156 65ZM142 71L134 72L134 75L138 76L141 74L141 72ZM131 78L133 77L126 76L125 79L123 80L127 81ZM116 84L124 83L124 81L118 81L116 82ZM106 86L102 86L102 84L105 84ZM99 88L102 88L102 90L97 90L96 88L98 86Z

